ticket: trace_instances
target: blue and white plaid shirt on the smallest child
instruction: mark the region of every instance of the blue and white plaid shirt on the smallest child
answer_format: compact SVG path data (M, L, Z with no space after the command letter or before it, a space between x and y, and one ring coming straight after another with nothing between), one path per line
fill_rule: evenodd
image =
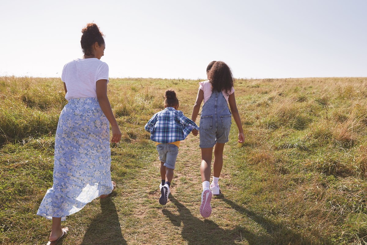
M173 107L157 112L145 125L145 130L150 132L150 139L162 144L184 140L193 129L199 130L199 127Z

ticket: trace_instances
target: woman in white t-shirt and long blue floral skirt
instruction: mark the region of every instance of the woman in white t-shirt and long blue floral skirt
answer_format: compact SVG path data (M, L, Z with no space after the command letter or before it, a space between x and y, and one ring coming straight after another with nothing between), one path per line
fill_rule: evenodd
M112 142L121 132L107 97L108 65L100 61L105 41L98 26L87 24L81 31L83 58L66 64L62 70L65 98L55 136L54 183L48 189L37 215L52 219L48 244L68 232L61 228L66 216L81 210L88 202L106 198L116 187L111 181Z

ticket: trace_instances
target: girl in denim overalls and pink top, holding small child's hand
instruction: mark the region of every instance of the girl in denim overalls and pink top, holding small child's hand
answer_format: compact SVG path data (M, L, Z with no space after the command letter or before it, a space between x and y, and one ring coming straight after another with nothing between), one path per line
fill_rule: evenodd
M233 89L232 72L222 61L212 61L207 67L208 80L200 82L199 92L192 111L191 119L195 122L199 114L201 102L204 100L200 114L200 148L201 148L201 193L200 214L209 217L211 214L210 201L212 195L219 195L219 175L223 165L224 144L228 142L229 130L232 124L231 112L239 130L238 142L243 143L244 135L240 115L236 106L235 89ZM229 108L228 104L229 103ZM194 135L197 131L193 130ZM211 160L214 148L214 173L210 184Z

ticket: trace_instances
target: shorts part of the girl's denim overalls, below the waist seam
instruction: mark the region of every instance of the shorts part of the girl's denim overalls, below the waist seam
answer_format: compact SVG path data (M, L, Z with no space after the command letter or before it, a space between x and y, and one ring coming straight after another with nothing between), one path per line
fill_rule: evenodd
M211 148L216 143L227 143L231 124L231 115L218 116L217 122L215 122L213 115L201 116L199 125L200 148Z

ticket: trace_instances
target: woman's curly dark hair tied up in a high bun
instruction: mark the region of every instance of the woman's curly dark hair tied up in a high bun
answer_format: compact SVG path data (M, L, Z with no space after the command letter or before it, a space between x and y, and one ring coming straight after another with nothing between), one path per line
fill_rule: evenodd
M103 33L99 30L98 26L94 23L88 23L86 27L81 29L81 49L83 53L86 55L92 54L92 46L95 42L98 42L98 45L105 44L105 39L103 39Z

